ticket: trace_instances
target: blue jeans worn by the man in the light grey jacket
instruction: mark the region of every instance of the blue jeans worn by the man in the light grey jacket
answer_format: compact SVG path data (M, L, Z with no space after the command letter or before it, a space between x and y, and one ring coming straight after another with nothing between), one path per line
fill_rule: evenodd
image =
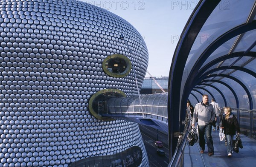
M208 125L198 125L199 145L201 150L205 149L204 134L207 139L208 153L214 153L213 141L212 141L212 123Z

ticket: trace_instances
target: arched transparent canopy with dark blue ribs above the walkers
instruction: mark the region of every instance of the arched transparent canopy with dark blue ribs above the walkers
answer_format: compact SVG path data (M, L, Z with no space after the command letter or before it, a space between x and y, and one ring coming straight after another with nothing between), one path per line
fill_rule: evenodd
M221 107L256 112L256 1L200 0L175 49L169 73L170 155L192 105L208 94Z

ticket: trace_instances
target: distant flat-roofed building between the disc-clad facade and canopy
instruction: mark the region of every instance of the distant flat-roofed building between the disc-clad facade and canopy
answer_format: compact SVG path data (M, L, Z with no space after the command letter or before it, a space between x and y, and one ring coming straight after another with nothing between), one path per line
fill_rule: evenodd
M163 88L164 91L168 91L168 76L153 76L157 83ZM145 77L140 94L152 94L152 93L162 93L163 91L157 85L151 76Z

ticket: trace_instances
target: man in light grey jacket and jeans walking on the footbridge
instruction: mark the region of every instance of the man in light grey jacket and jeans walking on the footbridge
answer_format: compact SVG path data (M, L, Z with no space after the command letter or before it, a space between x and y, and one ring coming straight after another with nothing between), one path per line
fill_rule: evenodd
M213 140L212 140L212 122L214 120L213 106L208 102L208 95L203 95L203 101L195 105L193 114L192 126L198 119L199 145L201 147L200 153L204 153L205 139L207 139L208 156L214 155Z

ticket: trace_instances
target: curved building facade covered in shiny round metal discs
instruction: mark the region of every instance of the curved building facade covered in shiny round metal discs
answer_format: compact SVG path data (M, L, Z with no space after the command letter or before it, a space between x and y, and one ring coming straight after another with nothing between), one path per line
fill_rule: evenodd
M100 98L94 111L89 104L103 90L138 96L147 66L139 32L109 11L77 0L1 0L0 167L67 167L134 146L148 166L138 125L101 119Z

